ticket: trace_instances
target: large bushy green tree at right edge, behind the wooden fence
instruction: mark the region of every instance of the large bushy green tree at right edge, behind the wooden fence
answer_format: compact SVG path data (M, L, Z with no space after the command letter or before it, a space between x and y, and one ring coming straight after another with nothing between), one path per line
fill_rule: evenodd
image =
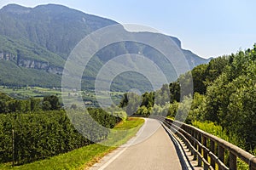
M254 71L256 66L253 65ZM230 133L245 139L246 150L256 147L256 76L247 74L232 82L236 92L230 95L226 116L223 122Z

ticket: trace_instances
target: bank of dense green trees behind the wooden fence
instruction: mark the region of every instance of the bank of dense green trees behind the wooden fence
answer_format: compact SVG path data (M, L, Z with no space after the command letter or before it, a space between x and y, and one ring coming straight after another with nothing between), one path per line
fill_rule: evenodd
M170 104L155 104L154 95L166 98L166 85L156 92L143 94L137 114L176 116L177 111L189 112L187 123L215 122L227 135L236 136L236 144L245 150L256 148L256 45L237 54L212 59L192 71L193 96L179 96L179 81L169 85ZM187 73L188 74L188 73ZM179 102L179 103L177 103ZM191 107L189 107L191 104ZM178 109L178 110L177 110Z

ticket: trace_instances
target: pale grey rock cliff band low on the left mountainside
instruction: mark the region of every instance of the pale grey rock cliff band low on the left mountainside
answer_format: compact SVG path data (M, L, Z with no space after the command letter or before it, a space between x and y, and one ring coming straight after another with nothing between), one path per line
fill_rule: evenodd
M38 61L35 59L25 59L10 53L0 53L0 59L15 62L16 65L29 69L44 70L53 74L61 75L63 68L49 65L49 62Z

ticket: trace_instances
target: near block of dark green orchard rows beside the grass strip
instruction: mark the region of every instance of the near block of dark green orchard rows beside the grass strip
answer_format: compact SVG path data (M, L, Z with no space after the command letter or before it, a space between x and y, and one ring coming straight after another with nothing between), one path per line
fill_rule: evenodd
M12 161L12 129L15 131L15 161L19 164L90 144L74 129L64 111L0 116L0 161Z

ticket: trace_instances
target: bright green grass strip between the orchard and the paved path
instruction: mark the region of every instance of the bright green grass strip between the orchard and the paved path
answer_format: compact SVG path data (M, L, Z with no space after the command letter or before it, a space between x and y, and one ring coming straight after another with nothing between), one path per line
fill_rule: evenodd
M0 169L19 169L19 170L52 170L52 169L87 169L103 156L107 155L112 150L116 149L121 144L125 144L131 137L133 137L140 127L143 126L144 120L141 118L128 118L125 122L120 122L113 131L109 134L108 140L104 141L106 144L113 144L106 146L102 144L90 144L78 150L73 150L59 156L53 156L42 161L35 161L30 164L19 167L12 167L11 163L0 164ZM117 136L118 131L126 131L125 135ZM121 138L120 138L121 137ZM117 139L116 139L117 138Z

